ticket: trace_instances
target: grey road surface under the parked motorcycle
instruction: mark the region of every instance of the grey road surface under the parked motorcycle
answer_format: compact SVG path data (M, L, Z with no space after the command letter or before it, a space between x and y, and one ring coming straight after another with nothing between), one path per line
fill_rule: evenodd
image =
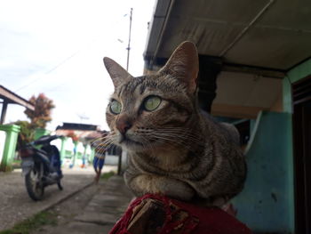
M116 166L104 166L104 172L115 170ZM58 190L57 185L45 188L44 199L35 202L28 197L24 178L20 170L12 173L0 173L0 230L5 230L16 222L54 206L79 190L84 190L93 182L92 167L86 169L64 169L62 180L64 190Z

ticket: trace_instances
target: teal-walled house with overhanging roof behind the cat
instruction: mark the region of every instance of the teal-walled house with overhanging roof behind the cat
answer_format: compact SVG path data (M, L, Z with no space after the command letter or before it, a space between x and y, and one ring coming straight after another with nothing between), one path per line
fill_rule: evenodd
M243 135L249 174L235 198L254 233L311 233L311 2L158 0L144 52L160 69L197 45L199 102Z

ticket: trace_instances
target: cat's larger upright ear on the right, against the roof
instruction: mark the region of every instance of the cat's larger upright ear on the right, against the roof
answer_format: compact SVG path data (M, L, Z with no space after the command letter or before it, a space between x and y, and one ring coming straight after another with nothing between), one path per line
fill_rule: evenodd
M195 93L196 79L199 73L199 58L195 44L188 41L179 44L159 72L178 78L186 83L189 93Z

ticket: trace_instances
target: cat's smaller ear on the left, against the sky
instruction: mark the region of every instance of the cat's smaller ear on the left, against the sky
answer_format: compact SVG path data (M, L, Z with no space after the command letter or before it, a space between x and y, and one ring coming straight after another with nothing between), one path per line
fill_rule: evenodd
M104 58L105 67L114 83L115 87L119 86L128 77L132 77L124 68L122 68L116 61L108 57Z

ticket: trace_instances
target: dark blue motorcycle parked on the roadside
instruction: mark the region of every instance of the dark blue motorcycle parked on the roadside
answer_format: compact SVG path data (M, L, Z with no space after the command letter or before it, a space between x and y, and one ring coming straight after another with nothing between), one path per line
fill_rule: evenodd
M51 145L51 141L60 137L44 135L19 150L26 189L29 197L35 201L44 197L44 188L48 185L56 183L59 189L63 190L60 183L63 177L60 169L60 151Z

